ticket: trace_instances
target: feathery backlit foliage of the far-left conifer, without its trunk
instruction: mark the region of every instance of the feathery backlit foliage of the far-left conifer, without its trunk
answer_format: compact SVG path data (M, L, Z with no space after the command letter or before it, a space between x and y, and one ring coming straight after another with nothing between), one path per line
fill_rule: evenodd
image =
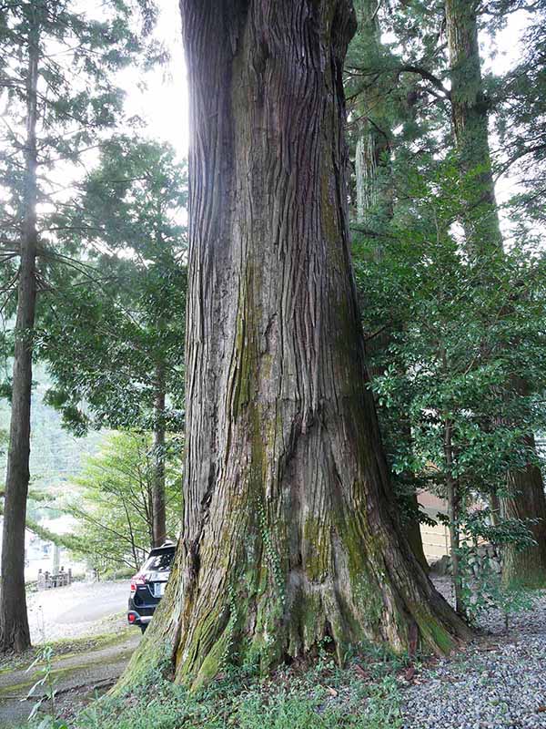
M147 67L164 59L164 50L148 39L156 16L149 0L87 4L84 13L75 2L60 0L5 5L0 22L0 87L6 111L0 151L3 293L14 292L17 241L25 216L29 53L37 54L36 227L38 275L46 289L48 269L56 260L51 211L66 199L66 176L76 180L75 165L105 130L120 123L123 93L116 86L116 72L131 63ZM2 303L4 313L13 312L13 296L10 302Z

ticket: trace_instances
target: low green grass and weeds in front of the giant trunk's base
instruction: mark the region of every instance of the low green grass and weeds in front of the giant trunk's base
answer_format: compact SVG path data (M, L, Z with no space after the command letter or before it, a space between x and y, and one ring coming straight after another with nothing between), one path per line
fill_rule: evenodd
M399 729L399 677L404 662L359 654L345 669L322 655L312 667L292 666L260 679L230 668L190 693L150 671L121 696L103 696L67 729Z

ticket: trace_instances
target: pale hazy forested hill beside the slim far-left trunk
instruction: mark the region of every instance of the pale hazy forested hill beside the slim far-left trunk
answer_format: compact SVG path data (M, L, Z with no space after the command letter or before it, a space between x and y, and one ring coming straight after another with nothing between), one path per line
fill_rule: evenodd
M63 490L70 488L70 482L76 477L86 457L95 455L106 433L89 432L85 437L76 437L61 425L61 416L56 410L45 405L44 395L49 387L49 380L45 367L35 365L32 395L32 431L30 474L31 492L51 493L55 498ZM7 401L0 401L0 428L9 430L10 406ZM2 478L5 477L6 448L0 454L0 468ZM55 512L54 512L55 513ZM51 509L47 509L47 516L54 516ZM31 518L45 515L44 508L37 508L37 504L30 505Z

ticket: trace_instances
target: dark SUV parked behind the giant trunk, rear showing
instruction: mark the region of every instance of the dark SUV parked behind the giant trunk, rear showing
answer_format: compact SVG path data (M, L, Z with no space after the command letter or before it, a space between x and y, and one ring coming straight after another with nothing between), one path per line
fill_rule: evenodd
M131 625L138 625L142 632L146 631L165 593L176 549L173 542L152 549L146 562L131 580L127 621Z

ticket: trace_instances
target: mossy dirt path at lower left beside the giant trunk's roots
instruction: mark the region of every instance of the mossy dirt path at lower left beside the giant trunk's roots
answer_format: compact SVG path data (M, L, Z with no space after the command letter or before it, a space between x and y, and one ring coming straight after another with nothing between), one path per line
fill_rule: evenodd
M125 631L103 648L54 658L53 675L59 697L77 689L81 701L82 696L92 697L97 688L109 687L126 667L140 639L140 631ZM38 672L39 667L28 673L23 669L0 673L0 729L15 729L28 718L36 699L21 700L40 677Z

